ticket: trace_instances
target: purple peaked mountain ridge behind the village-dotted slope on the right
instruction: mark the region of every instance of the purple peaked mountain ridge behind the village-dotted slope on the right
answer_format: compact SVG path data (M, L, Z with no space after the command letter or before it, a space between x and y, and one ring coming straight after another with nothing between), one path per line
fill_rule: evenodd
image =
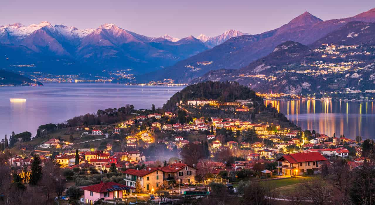
M138 76L137 79L139 82L144 82L150 79L171 78L176 82L190 83L193 79L212 70L240 69L248 66L253 61L270 54L283 42L294 41L309 45L352 21L374 22L375 9L349 18L327 21L305 12L274 30L232 37L220 45L181 60L173 66L146 73Z

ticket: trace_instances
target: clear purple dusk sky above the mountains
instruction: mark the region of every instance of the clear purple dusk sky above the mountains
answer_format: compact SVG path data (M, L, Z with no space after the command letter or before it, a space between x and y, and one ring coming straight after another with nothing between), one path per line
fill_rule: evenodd
M216 36L228 29L245 33L272 30L305 11L323 20L354 16L374 0L2 0L0 25L49 21L77 28L113 23L146 36Z

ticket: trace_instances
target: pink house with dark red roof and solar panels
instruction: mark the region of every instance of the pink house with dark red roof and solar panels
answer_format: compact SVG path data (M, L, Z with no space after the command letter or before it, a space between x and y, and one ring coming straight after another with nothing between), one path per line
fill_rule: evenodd
M85 203L92 205L101 198L105 200L123 198L127 191L131 195L131 190L135 188L115 182L107 182L83 187L82 189L84 190Z

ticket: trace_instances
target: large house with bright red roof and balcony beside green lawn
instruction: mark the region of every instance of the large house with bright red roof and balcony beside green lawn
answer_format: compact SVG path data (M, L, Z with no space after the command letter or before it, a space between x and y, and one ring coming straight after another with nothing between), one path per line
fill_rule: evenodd
M308 169L317 171L323 163L327 161L326 157L319 152L305 152L295 154L285 154L276 160L279 163L278 172L283 175L303 175Z

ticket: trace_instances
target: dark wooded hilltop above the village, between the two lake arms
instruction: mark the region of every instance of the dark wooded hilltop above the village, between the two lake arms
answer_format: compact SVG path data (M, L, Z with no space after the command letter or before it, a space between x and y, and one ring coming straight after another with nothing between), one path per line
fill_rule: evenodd
M180 92L175 93L163 106L166 111L174 111L176 103L180 100L219 100L220 102L233 102L235 100L261 101L249 87L238 82L200 82L189 85Z

